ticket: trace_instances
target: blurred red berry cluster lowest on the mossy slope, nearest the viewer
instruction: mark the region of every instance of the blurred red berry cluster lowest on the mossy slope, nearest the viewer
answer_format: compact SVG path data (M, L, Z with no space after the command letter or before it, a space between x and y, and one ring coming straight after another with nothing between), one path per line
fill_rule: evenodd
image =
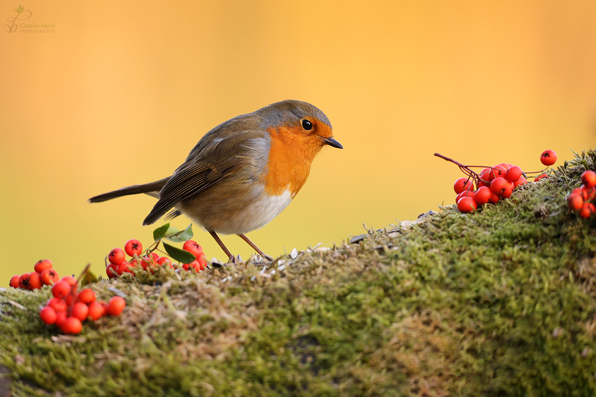
M120 296L114 296L107 303L97 301L91 288L77 293L77 285L75 277L66 276L52 286L54 298L39 311L44 323L56 324L66 334L78 334L83 328L82 321L87 318L95 321L107 314L120 315L126 306Z

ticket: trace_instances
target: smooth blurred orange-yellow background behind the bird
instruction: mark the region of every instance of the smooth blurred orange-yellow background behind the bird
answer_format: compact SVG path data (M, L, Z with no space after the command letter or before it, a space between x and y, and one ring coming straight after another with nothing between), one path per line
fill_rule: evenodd
M3 2L2 20L17 6ZM561 164L594 146L592 1L23 7L55 33L0 31L4 286L41 258L100 274L111 248L150 243L153 198L86 200L171 174L212 127L282 99L321 108L344 149L322 151L293 204L249 234L271 255L451 204L461 173L434 152L533 171L545 149ZM250 255L238 237L224 242Z

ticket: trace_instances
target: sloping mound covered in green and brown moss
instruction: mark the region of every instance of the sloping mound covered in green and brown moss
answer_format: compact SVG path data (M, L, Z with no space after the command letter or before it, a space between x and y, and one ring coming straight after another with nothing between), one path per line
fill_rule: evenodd
M595 161L266 267L101 280L128 307L77 336L48 287L1 290L0 369L17 396L594 396L596 221L566 195Z

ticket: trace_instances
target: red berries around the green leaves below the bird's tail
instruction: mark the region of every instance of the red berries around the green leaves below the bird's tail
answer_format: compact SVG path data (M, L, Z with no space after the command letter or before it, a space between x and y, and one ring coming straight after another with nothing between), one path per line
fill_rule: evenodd
M203 270L207 267L207 258L203 254L203 248L193 240L188 240L182 246L184 251L188 251L195 255L196 259L191 263L182 264L184 270L190 270L193 268L195 271ZM141 264L144 270L149 270L154 273L154 268L159 266L170 266L176 268L175 264L172 264L172 260L168 257L160 257L155 252L147 252L141 257L143 246L139 240L132 239L128 240L124 246L124 250L121 248L114 248L108 254L108 261L110 264L105 267L105 273L107 273L110 279L121 276L123 273L135 274L132 271L132 267L137 264ZM126 254L131 257L130 260L126 260Z

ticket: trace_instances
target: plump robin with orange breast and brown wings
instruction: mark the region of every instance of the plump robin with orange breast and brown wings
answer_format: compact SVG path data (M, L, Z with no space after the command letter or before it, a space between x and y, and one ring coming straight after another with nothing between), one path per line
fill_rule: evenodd
M147 193L158 200L144 225L172 210L166 220L187 215L232 262L234 255L218 233L238 235L263 258L271 258L245 233L265 226L290 204L325 145L343 149L333 139L327 116L306 102L281 101L210 130L172 176L122 187L89 202Z

